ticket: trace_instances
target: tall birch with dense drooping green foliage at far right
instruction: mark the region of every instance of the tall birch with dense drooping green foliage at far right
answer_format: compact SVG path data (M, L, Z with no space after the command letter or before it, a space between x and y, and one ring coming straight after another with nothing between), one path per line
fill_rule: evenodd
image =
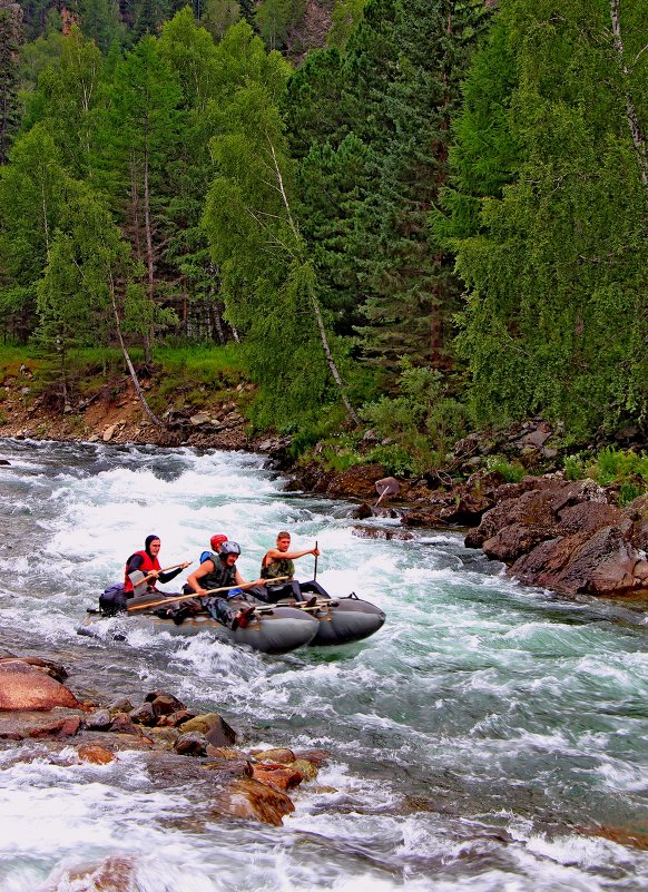
M639 6L625 3L621 23L637 46L646 40L626 27ZM648 410L646 187L609 6L571 0L554 12L548 1L500 4L458 130L450 245L468 286L459 349L477 421L540 411L585 437ZM639 65L637 97L647 78Z

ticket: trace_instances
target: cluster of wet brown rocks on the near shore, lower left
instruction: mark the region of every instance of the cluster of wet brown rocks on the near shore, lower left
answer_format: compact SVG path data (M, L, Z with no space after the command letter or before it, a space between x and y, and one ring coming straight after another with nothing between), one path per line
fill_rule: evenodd
M239 748L239 735L220 715L195 713L166 692L147 693L136 705L81 702L66 678L51 660L0 657L0 748L14 761L106 765L137 751L154 788L194 790L210 817L281 826L295 810L288 791L314 781L327 756Z

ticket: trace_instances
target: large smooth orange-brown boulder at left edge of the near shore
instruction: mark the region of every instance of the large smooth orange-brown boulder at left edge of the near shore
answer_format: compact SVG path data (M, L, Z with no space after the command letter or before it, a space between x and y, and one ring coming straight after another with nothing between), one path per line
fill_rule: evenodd
M52 709L81 704L71 690L42 668L20 659L0 661L0 709Z

